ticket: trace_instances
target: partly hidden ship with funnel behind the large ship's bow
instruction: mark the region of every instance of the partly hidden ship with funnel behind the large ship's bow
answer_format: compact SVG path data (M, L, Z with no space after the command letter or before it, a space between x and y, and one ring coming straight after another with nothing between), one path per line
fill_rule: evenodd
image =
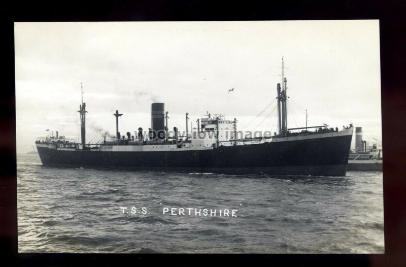
M362 140L362 127L355 127L355 149L350 151L347 171L382 172L383 154L377 144L368 147Z

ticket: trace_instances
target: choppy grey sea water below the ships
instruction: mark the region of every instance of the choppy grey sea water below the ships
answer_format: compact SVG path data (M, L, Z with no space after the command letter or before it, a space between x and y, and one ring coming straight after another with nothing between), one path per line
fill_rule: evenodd
M58 169L42 166L36 154L19 154L17 193L19 252L384 253L380 172ZM165 207L209 209L209 216L162 214ZM237 217L220 217L219 209L235 209Z

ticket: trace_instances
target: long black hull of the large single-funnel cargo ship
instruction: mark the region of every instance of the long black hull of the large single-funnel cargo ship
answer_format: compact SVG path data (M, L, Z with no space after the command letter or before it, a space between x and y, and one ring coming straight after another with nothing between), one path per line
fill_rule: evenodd
M45 166L90 166L133 170L211 172L223 174L346 174L351 135L270 142L218 149L110 152L63 151L37 147Z

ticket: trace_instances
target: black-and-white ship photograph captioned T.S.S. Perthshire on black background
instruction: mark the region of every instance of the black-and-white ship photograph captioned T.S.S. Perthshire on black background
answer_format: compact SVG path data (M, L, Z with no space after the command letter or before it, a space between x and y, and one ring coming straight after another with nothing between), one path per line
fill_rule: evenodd
M380 21L15 22L19 253L382 254Z

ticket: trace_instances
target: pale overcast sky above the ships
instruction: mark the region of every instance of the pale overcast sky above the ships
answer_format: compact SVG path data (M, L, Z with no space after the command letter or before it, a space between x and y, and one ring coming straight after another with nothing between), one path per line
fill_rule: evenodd
M307 109L309 126L353 123L371 145L382 140L379 48L378 20L15 23L17 152L46 129L79 140L81 82L87 142L103 138L96 128L114 134L115 110L122 135L148 129L153 102L170 129L209 112L274 132L282 56L288 127L305 126Z

